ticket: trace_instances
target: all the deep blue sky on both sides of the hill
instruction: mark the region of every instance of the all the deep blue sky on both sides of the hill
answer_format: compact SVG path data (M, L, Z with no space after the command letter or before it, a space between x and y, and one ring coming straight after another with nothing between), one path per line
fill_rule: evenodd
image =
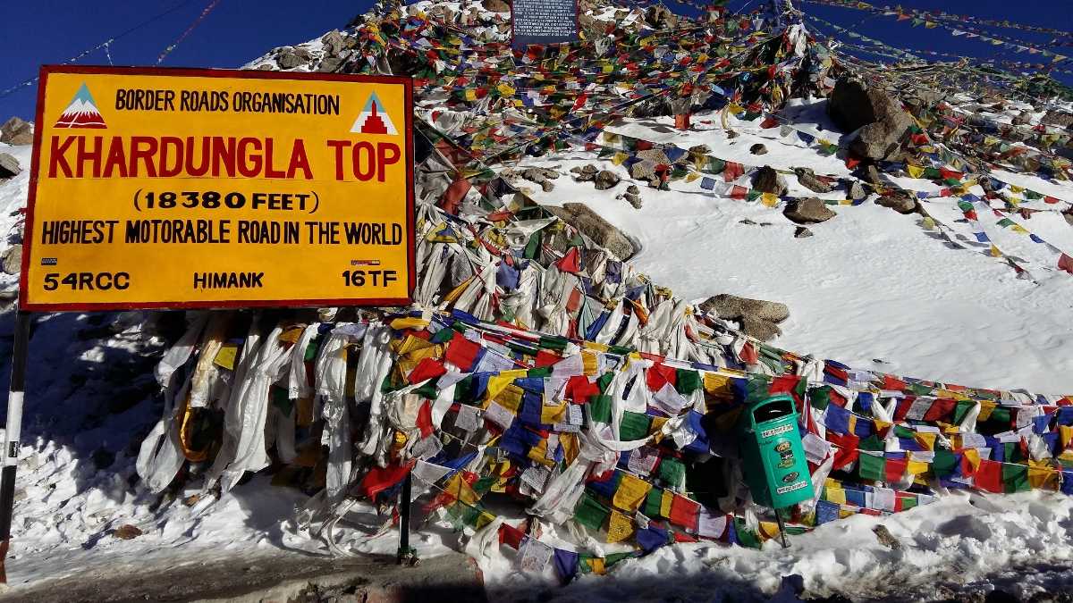
M679 9L673 0L666 1L672 8ZM730 5L751 10L763 1L766 0L732 0ZM4 2L3 16L0 17L0 47L4 50L0 93L36 75L42 63L64 62L111 36L178 6L111 46L112 60L116 64L151 65L208 3L209 0L9 0ZM351 17L365 12L369 3L369 0L221 0L162 64L234 68L271 47L296 44L329 29L341 28ZM878 5L883 2L872 3ZM890 3L898 2L890 0ZM900 0L900 4L1073 31L1070 0ZM974 40L954 38L943 29L914 28L907 21L899 23L891 17L802 2L797 6L871 38L910 49L934 49L983 58L1000 56L1032 62L1039 60L1038 56L1017 55ZM1046 43L1050 40L1046 34L1015 29L994 31L1026 42ZM1073 47L1052 49L1073 56ZM108 59L103 50L98 50L78 62L108 64ZM1073 70L1073 61L1067 61L1064 65ZM1073 75L1058 77L1073 84ZM31 118L35 91L34 85L0 98L0 120L9 115Z

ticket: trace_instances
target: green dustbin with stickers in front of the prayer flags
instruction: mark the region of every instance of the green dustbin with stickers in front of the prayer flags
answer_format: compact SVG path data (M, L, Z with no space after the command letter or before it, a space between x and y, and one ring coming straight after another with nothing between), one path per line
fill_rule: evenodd
M778 510L812 498L793 398L780 394L746 406L738 428L741 470L754 502Z

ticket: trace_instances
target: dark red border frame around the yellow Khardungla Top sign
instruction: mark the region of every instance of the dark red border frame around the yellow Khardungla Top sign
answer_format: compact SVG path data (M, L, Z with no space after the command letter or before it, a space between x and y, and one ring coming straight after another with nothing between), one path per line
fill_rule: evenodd
M27 302L30 266L30 250L33 247L33 209L38 196L38 170L41 160L41 138L44 129L41 128L45 111L45 89L48 75L52 73L73 74L109 74L109 75L178 75L185 77L231 77L242 79L314 79L328 82L352 82L369 84L401 84L403 88L406 112L406 149L407 149L407 200L406 227L409 236L407 246L407 296L406 297L373 297L358 299L250 299L235 302L106 302L30 304ZM23 230L23 262L18 277L18 308L30 312L56 311L108 311L108 310L150 310L150 309L227 309L227 308L319 308L333 306L374 307L374 306L409 306L413 302L413 291L417 284L416 266L416 226L414 216L413 192L413 78L401 75L358 75L343 73L313 73L291 71L261 70L229 70L229 69L195 69L195 68L162 68L162 67L104 67L104 65L41 65L38 83L38 106L34 112L33 150L30 160L30 182L26 197L26 220Z

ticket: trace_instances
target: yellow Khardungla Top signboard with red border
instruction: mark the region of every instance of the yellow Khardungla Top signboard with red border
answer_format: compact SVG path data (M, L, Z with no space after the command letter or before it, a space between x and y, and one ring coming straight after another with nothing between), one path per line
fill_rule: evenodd
M42 69L26 310L405 305L412 83Z

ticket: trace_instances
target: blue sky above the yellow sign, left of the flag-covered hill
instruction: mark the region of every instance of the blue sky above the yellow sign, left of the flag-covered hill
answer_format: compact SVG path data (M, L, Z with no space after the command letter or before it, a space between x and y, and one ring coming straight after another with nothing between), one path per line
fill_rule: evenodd
M0 91L170 9L178 10L111 45L115 64L152 65L210 0L4 0L0 15ZM235 68L266 50L342 29L369 0L221 0L161 63ZM77 64L108 64L98 50ZM36 85L0 98L0 121L33 117Z

